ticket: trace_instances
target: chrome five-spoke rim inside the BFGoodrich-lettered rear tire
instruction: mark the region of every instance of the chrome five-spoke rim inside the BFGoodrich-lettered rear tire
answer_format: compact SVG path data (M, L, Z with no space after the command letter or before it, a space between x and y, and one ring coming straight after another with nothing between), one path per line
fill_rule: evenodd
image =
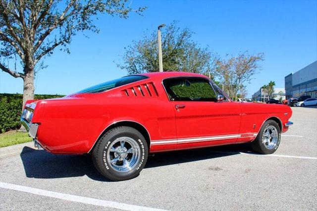
M127 172L139 162L141 150L136 140L130 137L115 139L107 151L107 160L115 171Z

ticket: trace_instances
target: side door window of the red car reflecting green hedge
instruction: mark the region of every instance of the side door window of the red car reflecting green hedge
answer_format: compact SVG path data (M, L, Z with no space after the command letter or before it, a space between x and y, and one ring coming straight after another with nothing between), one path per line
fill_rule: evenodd
M165 79L163 85L171 101L213 101L216 94L208 80L201 78Z

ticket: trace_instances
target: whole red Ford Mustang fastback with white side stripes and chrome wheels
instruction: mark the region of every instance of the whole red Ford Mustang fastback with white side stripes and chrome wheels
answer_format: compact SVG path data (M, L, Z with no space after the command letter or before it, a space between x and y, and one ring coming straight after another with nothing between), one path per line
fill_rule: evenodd
M50 100L27 102L22 124L46 151L91 154L110 180L136 177L149 153L252 142L276 151L292 110L232 102L208 77L131 75Z

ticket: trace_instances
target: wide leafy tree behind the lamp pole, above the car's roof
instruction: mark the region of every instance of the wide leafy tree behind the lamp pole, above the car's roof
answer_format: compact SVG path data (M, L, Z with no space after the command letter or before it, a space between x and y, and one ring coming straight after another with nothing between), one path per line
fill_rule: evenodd
M212 72L213 54L192 40L193 32L181 29L177 21L162 28L163 71L184 71L209 75ZM145 34L125 48L123 62L118 64L129 74L158 72L157 31Z

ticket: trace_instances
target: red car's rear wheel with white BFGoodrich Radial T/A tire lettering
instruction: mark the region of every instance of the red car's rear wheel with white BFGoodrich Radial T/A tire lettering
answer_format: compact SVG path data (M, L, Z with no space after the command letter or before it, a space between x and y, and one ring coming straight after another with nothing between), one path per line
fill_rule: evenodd
M127 142L126 138L128 138L129 142ZM118 142L120 139L126 140L126 142L124 141L123 148L120 146L120 142ZM134 162L133 166L130 166L131 169L123 171L117 168L117 166L119 166L117 165L118 162L122 168L125 168L123 160L120 160L125 158L121 158L121 153L119 153L119 156L115 157L115 155L118 155L118 153L117 151L113 151L117 143L119 143L119 146L116 147L116 150L120 151L125 149L125 153L122 153L124 150L120 152L123 154L123 157L125 155L126 161L128 161L129 156L131 156L130 161L132 161L134 155L139 155L138 158L135 158L136 161ZM132 145L134 147L132 147ZM134 149L133 155L131 155L132 153L130 155L127 153L127 148L129 146L131 149ZM112 148L112 150L110 148ZM140 171L144 168L147 162L148 151L147 142L144 136L138 130L132 127L120 126L109 130L98 140L92 152L92 160L97 170L107 179L112 181L128 180L135 178L140 174ZM111 158L118 158L117 161L115 161L115 164L110 163Z

